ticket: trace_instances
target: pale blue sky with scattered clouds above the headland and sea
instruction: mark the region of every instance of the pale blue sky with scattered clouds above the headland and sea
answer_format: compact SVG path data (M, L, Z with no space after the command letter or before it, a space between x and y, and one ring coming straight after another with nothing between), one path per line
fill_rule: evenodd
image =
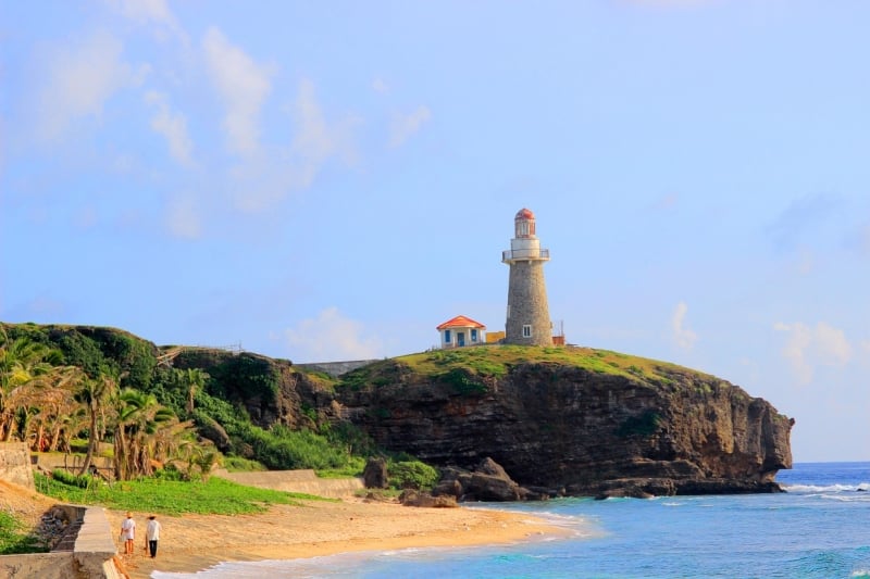
M295 362L504 329L870 460L870 3L0 0L0 319Z

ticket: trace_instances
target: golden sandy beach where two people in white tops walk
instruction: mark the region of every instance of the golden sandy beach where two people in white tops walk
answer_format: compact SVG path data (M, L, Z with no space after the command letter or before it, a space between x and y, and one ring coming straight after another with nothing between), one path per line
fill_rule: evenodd
M125 513L108 511L113 530ZM288 559L353 551L471 546L567 536L566 529L525 514L477 508L421 508L396 503L306 501L258 515L159 516L157 558L145 553L150 513L134 513L136 553L120 555L130 579L153 570L194 572L225 561ZM117 532L114 533L117 544ZM117 544L119 553L123 546Z

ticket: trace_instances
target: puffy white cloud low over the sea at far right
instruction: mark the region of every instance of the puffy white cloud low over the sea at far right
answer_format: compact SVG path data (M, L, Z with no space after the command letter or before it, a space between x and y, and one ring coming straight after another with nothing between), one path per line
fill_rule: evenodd
M788 333L782 355L792 364L800 383L812 381L816 366L845 366L852 360L852 345L843 330L819 322L815 328L795 322L773 325L776 331Z

